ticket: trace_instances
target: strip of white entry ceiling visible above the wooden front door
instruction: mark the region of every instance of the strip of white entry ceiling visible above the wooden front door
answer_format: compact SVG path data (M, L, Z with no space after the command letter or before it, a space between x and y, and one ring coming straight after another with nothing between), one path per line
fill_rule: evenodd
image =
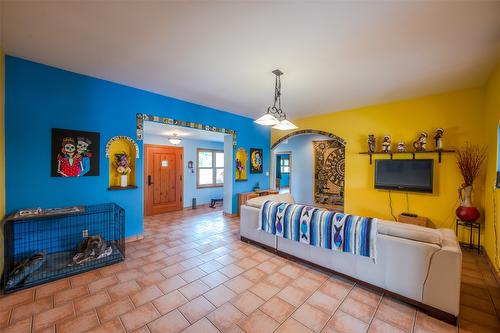
M182 139L215 141L215 142L224 142L224 136L229 135L229 134L222 134L205 130L198 130L188 127L155 123L152 121L144 122L144 135L146 138L148 135L158 135L169 138L174 136L174 134L177 134Z

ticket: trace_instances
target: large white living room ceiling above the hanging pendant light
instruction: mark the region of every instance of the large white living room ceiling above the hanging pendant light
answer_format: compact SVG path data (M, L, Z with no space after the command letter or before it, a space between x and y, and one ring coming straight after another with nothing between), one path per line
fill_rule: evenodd
M7 54L258 117L483 85L500 1L4 2Z

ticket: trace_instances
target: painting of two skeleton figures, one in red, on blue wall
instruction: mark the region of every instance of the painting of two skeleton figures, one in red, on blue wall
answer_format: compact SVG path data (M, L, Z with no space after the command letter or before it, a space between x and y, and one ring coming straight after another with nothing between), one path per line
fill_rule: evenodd
M100 134L52 129L52 177L99 176Z

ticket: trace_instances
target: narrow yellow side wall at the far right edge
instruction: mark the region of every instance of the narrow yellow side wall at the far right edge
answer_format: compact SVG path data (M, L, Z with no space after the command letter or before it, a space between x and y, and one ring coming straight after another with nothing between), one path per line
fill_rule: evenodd
M488 161L485 182L485 248L491 261L500 269L497 251L500 247L500 210L495 207L500 203L500 190L494 189L498 158L498 124L500 121L500 66L491 76L486 86L484 133L488 142ZM496 216L495 216L496 215ZM495 234L495 228L497 233Z

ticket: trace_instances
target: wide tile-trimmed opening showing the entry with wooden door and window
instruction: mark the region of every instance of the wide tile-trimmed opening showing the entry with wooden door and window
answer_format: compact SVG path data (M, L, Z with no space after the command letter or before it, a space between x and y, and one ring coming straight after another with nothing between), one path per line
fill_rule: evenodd
M144 122L144 215L201 206L231 213L233 137Z

